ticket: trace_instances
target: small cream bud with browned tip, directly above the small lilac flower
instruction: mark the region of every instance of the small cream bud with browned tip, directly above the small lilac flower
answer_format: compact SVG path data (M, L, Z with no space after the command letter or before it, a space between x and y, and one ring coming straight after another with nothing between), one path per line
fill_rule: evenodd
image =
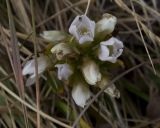
M56 54L58 60L62 60L64 56L71 54L73 50L68 44L59 43L51 49L51 52Z

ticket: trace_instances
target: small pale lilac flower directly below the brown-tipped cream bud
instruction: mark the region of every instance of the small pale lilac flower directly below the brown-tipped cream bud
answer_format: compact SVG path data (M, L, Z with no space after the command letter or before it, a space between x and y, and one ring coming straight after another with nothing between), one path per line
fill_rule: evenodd
M55 67L58 68L59 80L68 80L73 74L73 70L69 64L56 64Z

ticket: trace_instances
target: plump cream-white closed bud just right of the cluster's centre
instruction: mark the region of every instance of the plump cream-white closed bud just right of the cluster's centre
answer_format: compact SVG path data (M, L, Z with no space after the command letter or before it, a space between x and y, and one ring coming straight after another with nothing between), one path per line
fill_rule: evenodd
M101 73L99 67L92 60L84 60L82 65L82 73L86 82L90 85L96 85L101 80Z

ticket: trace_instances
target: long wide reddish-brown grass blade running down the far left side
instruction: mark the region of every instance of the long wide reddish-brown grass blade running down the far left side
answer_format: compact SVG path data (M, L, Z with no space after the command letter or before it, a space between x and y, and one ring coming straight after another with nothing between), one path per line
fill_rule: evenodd
M13 60L13 67L12 68L13 68L13 72L15 75L16 83L18 85L20 97L22 99L25 99L24 82L23 82L23 77L22 77L20 54L19 54L19 49L18 49L18 40L15 35L16 30L15 30L15 26L14 26L10 3L8 0L6 0L6 3L7 3L7 9L8 9L9 27L11 30L11 47L12 47L12 60ZM22 107L23 107L25 125L28 128L27 110L23 104L22 104Z

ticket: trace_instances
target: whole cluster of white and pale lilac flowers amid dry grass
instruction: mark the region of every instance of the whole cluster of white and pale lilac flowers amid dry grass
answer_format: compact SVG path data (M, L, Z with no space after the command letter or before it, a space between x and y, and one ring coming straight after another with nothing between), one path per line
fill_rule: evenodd
M116 23L117 18L111 14L104 14L97 23L86 15L81 15L71 23L69 27L71 35L60 31L45 31L41 34L44 39L56 42L51 53L56 59L54 67L57 69L57 78L71 85L72 97L78 106L84 107L91 97L89 86L103 88L109 82L100 65L116 63L123 52L123 43L112 37ZM38 64L41 65L39 59ZM48 66L47 60L44 60L45 67L38 68L39 74ZM29 64L26 65L23 74L31 74L32 78L35 76L34 70L27 73L25 69ZM114 84L105 92L112 97L120 96Z

